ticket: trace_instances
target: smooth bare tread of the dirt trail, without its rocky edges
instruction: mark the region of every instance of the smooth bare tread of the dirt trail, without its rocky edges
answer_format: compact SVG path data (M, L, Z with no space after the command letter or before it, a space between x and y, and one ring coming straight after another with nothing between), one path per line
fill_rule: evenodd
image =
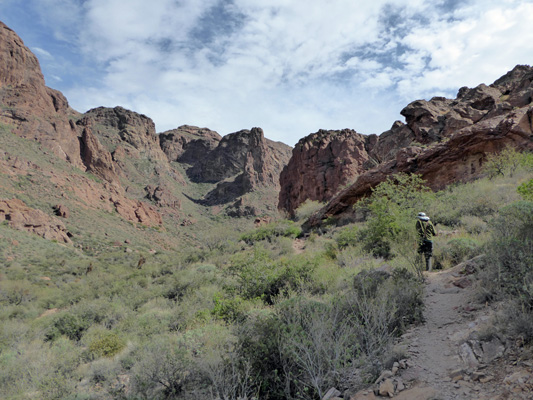
M461 279L457 275L457 270L427 275L426 323L403 338L413 365L405 371L404 378L416 380L417 386L428 388L425 397L420 398L473 399L478 398L482 390L479 384L465 380L466 375L460 372L467 365L458 350L480 323L488 319L488 310L476 310L472 304L472 291L453 284ZM465 278L462 279L468 284ZM403 396L409 398L409 392Z

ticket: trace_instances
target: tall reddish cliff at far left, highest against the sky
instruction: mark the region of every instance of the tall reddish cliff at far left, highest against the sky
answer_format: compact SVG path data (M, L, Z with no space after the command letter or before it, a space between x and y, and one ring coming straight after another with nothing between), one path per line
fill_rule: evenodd
M83 168L78 133L65 97L46 87L37 57L0 22L0 121L18 136L38 140L56 156Z

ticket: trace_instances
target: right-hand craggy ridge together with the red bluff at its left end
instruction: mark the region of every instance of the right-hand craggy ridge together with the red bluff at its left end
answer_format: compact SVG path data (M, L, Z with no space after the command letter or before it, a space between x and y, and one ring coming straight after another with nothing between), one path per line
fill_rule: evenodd
M279 207L293 213L305 199L328 201L310 221L313 226L350 213L357 200L391 174L420 174L435 190L476 179L487 154L506 146L533 149L532 101L533 68L519 65L490 86L461 88L456 99L409 104L401 111L406 123L395 122L379 137L350 131L313 134L296 145L282 172ZM358 150L348 150L355 143ZM346 150L341 154L335 148ZM315 169L321 182L309 185L309 177L299 171ZM323 190L323 182L337 188L350 180L335 196L335 190Z

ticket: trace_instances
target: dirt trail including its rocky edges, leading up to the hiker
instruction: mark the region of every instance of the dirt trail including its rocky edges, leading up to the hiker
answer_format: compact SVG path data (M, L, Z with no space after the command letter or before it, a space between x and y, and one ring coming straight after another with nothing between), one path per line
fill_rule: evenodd
M396 388L393 397L533 399L533 363L516 361L517 357L513 362L513 356L498 338L483 336L493 311L475 301L472 279L461 274L462 269L463 266L457 266L426 275L426 321L409 330L398 344L407 356L407 368L401 366L388 376ZM386 380L374 389L379 391ZM384 397L367 390L351 400L376 398Z

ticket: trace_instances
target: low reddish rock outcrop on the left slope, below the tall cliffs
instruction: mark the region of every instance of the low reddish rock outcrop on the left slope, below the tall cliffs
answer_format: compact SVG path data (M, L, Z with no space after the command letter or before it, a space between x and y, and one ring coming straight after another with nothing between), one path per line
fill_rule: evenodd
M0 200L0 222L8 221L11 228L35 233L48 240L71 243L63 222L41 210L28 207L22 200Z

